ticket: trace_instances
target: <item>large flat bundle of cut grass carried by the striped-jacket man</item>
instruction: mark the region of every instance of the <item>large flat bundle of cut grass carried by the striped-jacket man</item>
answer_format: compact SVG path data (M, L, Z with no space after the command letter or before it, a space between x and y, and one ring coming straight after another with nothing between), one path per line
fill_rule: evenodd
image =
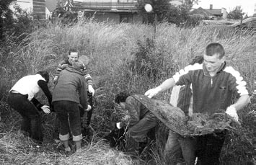
M184 112L172 104L162 102L158 99L149 99L140 94L133 95L139 102L144 104L160 121L169 129L180 135L206 135L231 128L236 125L229 115L216 113L213 115L193 114L187 121ZM237 123L239 125L239 123Z

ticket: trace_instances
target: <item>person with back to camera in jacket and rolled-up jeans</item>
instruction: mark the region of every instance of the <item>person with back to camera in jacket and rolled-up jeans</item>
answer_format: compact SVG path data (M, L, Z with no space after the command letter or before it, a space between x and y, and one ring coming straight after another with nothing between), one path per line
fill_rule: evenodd
M84 110L90 109L87 104L87 82L84 79L83 68L81 61L73 62L72 66L67 66L61 71L53 89L53 107L60 120L59 138L65 147L65 151L71 151L71 148L69 148L70 131L76 144L76 151L81 149L82 135L79 106Z

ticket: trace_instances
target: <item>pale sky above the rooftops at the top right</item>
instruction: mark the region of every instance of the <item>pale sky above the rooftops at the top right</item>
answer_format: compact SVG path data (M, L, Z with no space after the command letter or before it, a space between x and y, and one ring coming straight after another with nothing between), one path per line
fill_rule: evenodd
M252 16L254 14L256 0L199 0L198 5L194 5L193 8L202 7L203 9L208 9L210 4L213 4L213 9L224 7L227 12L232 11L236 6L241 6L245 14Z

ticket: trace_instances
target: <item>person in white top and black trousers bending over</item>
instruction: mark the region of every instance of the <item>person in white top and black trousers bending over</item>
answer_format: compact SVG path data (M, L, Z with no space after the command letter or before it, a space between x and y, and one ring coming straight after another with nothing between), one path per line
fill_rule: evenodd
M40 122L40 111L50 113L52 95L48 89L49 73L38 71L19 79L8 94L8 104L22 116L22 133L30 135L37 143L43 143L43 133ZM35 94L43 90L49 105L41 104L35 99Z

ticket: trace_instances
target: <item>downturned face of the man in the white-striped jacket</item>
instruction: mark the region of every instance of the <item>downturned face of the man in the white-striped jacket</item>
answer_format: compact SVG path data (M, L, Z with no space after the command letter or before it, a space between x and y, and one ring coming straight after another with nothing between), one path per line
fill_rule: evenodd
M214 54L213 56L203 55L203 63L205 64L207 71L210 73L217 72L224 61L225 57L219 59L219 54Z

